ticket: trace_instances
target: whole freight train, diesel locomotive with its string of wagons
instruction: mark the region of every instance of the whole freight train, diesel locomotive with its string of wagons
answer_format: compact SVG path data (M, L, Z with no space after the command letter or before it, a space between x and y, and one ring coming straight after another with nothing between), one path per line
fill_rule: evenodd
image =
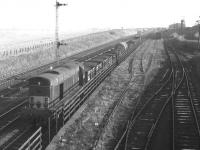
M31 114L48 114L57 109L74 85L84 86L103 70L118 63L134 42L121 42L108 51L84 62L70 61L64 65L31 77L29 81L29 108Z

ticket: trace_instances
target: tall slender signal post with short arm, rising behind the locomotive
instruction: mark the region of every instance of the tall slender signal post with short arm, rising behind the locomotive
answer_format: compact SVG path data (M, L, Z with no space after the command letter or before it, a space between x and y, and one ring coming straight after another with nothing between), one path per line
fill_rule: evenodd
M59 3L57 0L56 0L56 31L55 31L55 40L56 40L56 60L59 64L59 47L60 47L60 41L59 41L59 36L58 36L58 8L60 6L66 6L67 4L62 4L62 3Z

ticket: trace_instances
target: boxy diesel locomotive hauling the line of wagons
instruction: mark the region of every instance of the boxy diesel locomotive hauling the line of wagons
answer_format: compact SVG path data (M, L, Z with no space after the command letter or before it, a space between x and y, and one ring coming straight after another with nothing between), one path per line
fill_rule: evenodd
M82 67L74 62L65 63L63 66L30 78L29 108L38 111L57 110L62 105L67 91L78 84Z

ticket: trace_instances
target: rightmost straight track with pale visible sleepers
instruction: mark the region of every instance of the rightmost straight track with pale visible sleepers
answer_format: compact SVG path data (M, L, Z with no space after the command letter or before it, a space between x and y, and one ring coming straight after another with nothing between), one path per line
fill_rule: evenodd
M181 63L179 56L174 53ZM191 89L192 82L182 65L183 80L173 98L173 150L200 149L200 124ZM194 95L195 93L193 93Z

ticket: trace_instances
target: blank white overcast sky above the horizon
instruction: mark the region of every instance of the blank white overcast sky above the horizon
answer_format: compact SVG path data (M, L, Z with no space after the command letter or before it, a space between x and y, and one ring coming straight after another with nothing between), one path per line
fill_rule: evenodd
M55 29L55 0L0 0L0 28ZM200 0L60 0L62 31L90 28L166 27L185 19L194 25Z

